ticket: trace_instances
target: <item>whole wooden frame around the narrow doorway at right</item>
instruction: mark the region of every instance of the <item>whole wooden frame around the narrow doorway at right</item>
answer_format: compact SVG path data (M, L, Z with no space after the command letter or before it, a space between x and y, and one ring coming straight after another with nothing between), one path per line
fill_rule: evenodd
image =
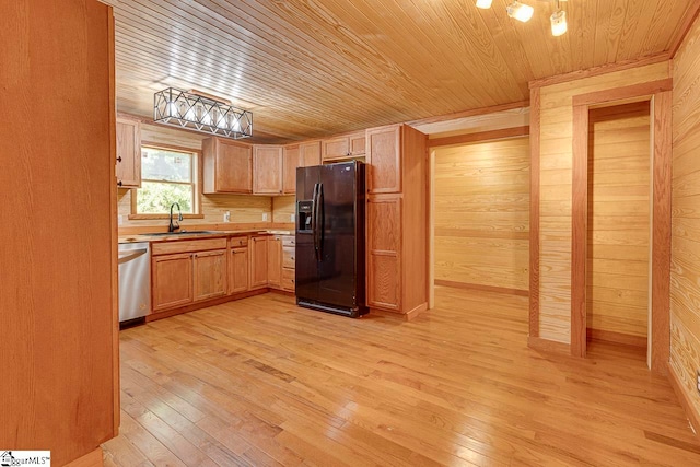
M586 354L586 260L588 221L588 110L649 101L652 156L651 316L648 361L665 373L670 353L670 184L673 80L580 94L573 97L571 354Z

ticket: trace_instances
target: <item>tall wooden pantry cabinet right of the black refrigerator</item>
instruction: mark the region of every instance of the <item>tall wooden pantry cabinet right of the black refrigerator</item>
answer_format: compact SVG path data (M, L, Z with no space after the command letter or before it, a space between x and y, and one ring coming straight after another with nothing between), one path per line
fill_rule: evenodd
M428 137L366 131L368 306L408 318L428 307Z

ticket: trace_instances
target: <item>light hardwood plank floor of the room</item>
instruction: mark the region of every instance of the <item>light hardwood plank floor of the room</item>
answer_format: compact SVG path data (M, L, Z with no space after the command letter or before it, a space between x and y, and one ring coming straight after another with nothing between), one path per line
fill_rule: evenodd
M105 465L700 465L638 351L544 354L526 297L435 296L410 323L268 293L121 331Z

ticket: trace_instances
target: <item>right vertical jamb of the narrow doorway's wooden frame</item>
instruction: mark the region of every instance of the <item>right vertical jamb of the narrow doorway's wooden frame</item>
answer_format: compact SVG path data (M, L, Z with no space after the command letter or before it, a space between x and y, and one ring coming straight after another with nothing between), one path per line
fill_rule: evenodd
M666 372L670 354L672 106L670 91L654 94L651 367L660 373Z

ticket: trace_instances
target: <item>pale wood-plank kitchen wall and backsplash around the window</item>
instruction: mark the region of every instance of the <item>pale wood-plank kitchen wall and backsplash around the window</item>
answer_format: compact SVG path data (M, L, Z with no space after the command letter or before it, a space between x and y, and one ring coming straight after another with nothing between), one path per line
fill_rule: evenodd
M185 149L201 151L201 141L208 138L206 135L197 135L191 131L182 131L160 125L141 124L141 140L144 143L170 144ZM290 197L282 197L290 198ZM291 197L293 198L293 197ZM131 190L119 189L117 194L119 214L122 219L121 226L163 226L167 221L163 220L129 220L131 212ZM278 211L276 211L276 209ZM232 223L260 223L262 214L267 214L267 222L290 223L291 212L288 201L275 201L269 196L253 195L202 195L201 213L203 219L185 219L182 225L220 224L225 211L231 212ZM273 221L273 219L280 219Z

